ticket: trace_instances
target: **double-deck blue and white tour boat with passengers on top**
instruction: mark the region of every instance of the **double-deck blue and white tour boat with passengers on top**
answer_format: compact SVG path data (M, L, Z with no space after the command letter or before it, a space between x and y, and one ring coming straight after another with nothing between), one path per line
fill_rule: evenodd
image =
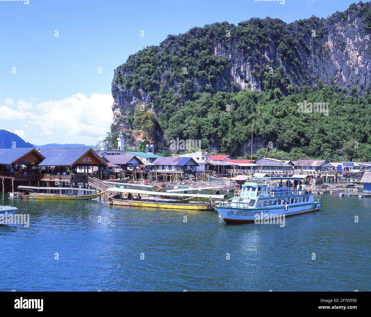
M295 186L295 187L294 187ZM321 197L299 177L252 178L239 196L219 200L214 209L226 223L254 222L257 217L275 218L319 210Z

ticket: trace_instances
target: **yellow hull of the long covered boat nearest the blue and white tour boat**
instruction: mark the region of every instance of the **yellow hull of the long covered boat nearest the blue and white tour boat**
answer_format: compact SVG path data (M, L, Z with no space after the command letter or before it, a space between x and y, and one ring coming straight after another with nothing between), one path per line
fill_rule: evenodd
M142 200L127 200L127 199L107 199L111 205L135 206L135 207L152 207L165 209L190 209L190 210L211 210L209 204L199 203L171 203L171 202L146 202Z

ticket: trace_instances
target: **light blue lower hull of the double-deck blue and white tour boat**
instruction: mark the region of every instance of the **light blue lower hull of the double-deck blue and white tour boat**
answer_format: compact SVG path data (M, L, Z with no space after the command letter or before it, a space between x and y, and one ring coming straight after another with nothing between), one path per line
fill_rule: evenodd
M265 218L273 219L276 218L277 215L285 215L285 217L299 215L301 213L319 210L320 207L320 202L313 202L305 205L292 206L289 208L289 210L286 210L285 206L275 209L238 209L214 206L214 209L219 213L221 218L223 218L226 223L251 223L255 222L257 218L256 215L259 215L261 220Z

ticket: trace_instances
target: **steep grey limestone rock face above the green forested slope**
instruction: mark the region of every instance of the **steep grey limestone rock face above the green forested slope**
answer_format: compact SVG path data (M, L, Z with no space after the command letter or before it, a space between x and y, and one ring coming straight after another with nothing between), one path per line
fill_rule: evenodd
M164 91L179 95L179 104L192 99L194 92L207 89L233 92L248 88L259 92L265 89L265 72L273 78L280 74L276 86L283 94L288 94L292 85L311 86L319 82L347 90L355 87L362 93L371 80L369 10L370 2L352 4L345 12L336 12L326 19L311 17L290 24L279 19L250 19L237 26L216 23L168 36L159 46L131 55L127 63L115 70L114 131L131 129L122 112L139 103L151 105L158 114L156 98ZM188 46L195 41L200 47L208 46L218 58L219 69L214 74L210 68L204 71L198 65L195 71L194 64L185 63L187 52L202 61L202 56L197 55L198 47ZM170 58L164 59L164 51ZM147 55L147 62L135 64L139 56ZM183 60L181 56L185 56ZM207 63L204 61L204 65ZM147 78L145 84L143 78Z

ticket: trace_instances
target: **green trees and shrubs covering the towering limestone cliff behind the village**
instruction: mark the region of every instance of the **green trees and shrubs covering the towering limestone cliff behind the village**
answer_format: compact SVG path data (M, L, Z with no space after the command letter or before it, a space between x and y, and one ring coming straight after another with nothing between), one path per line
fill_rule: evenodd
M286 24L253 18L237 26L214 23L169 35L115 69L114 97L120 94L127 104L139 99L139 105L148 102L154 110L139 111L137 105L119 120L146 131L154 142L160 134L167 140L202 139L205 149L237 157L249 153L253 130L254 142L272 141L279 148L270 153L278 158L370 161L370 83L359 82L365 72L355 75L349 66L345 71L353 77L342 86L334 84L342 76L329 75L324 84L320 78L331 71L319 75L329 65L322 63L328 55L321 46L325 33L336 24L344 38L353 34L350 16L361 17L358 30L371 32L370 3L360 2L328 19L313 16ZM339 52L334 48L332 53ZM321 63L313 62L313 55ZM244 68L239 78L231 77L237 74L232 68ZM254 90L250 83L256 84ZM328 115L299 112L301 102L328 103ZM122 112L124 106L119 106Z

